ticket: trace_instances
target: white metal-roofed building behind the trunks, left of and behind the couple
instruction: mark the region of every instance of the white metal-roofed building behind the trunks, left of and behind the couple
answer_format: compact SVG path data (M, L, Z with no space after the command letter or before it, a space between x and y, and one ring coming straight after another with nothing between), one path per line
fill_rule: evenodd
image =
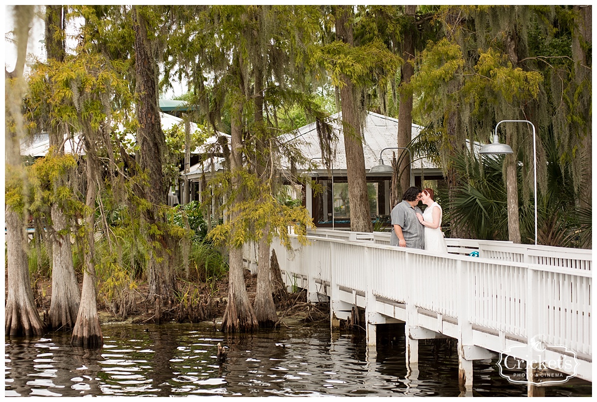
M328 118L336 141L332 144L332 154L335 155L328 170L322 164L322 152L316 123L304 125L280 137L281 143L292 143L306 158L306 164L296 164L298 174L308 174L318 185L324 189L322 194L314 194L311 183L307 181L301 189L293 188L294 198L302 198L303 205L310 211L317 226L323 227L348 227L350 222L350 205L347 197L346 154L344 152L344 136L342 130L341 113L336 113ZM415 139L423 129L420 125L413 124L411 136ZM390 205L390 182L392 172L369 173L370 169L379 164L380 154L386 164L390 164L392 152L401 155L398 148L398 120L374 112L368 112L363 127L363 153L365 158L365 171L367 186L370 193L370 206L372 219L387 217L393 205ZM222 152L221 150L220 152ZM383 154L382 154L383 151ZM201 199L201 177L209 177L217 171L223 171L224 158L214 154L215 157L200 162L190 168L186 177L190 180L190 200ZM291 162L280 158L283 171L291 170ZM316 168L311 169L313 165ZM426 185L441 185L443 176L441 168L434 165L429 159L416 159L412 162L412 182L421 186L421 175L426 180ZM181 172L181 177L185 175ZM427 181L428 180L428 181ZM435 181L435 183L430 183ZM385 219L385 218L384 218Z

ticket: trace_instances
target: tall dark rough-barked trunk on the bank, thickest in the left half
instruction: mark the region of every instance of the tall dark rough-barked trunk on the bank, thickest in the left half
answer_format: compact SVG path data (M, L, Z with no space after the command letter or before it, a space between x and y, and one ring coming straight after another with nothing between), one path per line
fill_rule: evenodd
M140 145L140 167L147 174L148 183L139 189L141 197L150 202L151 207L143 212L147 227L157 228L159 233L148 233L147 240L153 244L152 255L147 263L149 293L155 306L155 322L162 320L164 306L173 301L176 290L173 269L170 269L170 258L167 249L170 247L170 236L165 230L165 217L159 206L165 204L164 186L165 137L162 132L158 106L158 70L152 44L147 36L147 20L140 8L133 9L135 31L135 73L137 102L137 141Z

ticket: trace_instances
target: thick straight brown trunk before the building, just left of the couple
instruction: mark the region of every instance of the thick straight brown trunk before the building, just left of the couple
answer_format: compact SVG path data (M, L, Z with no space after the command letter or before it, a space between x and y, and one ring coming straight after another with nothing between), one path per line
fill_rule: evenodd
M352 32L352 6L336 6L336 35L338 39L354 44ZM343 74L340 88L342 108L342 130L344 134L344 152L346 153L346 176L350 202L350 230L373 232L369 198L367 195L367 177L365 176L365 156L363 137L359 122L359 106L355 84Z

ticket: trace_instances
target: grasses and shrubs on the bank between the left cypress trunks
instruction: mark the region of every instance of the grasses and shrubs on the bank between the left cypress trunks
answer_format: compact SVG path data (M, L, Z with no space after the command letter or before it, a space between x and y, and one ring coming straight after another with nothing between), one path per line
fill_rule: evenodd
M223 317L229 300L229 263L226 247L214 243L208 235L209 223L203 217L202 205L191 201L186 205L177 205L169 212L171 230L184 231L180 242L167 250L173 286L168 301L158 311L156 317L155 292L150 290L147 270L151 253L146 245L136 241L133 235L122 225L121 211L110 214L107 221L109 229L96 232L95 236L95 275L96 309L99 323L104 324L147 324L147 323L213 323L221 330ZM211 222L217 226L221 222ZM82 294L85 277L84 246L76 236L76 227L71 231L73 281ZM118 235L112 235L118 232ZM33 290L33 302L45 331L62 330L51 326L49 312L52 304L53 257L48 244L51 235L43 228L35 227L33 239L26 248L30 283ZM270 277L272 281L272 299L275 314L272 325L284 324L282 318L301 315L304 322L329 320L329 307L313 305L307 302L306 292L288 293L282 281L277 257L270 256ZM8 272L8 269L7 271ZM248 303L255 304L257 293L257 272L242 268L242 280L247 289ZM8 275L6 278L8 283ZM5 289L8 297L8 289ZM75 311L76 314L76 311ZM276 317L277 316L277 317ZM63 326L70 330L72 327ZM268 327L268 326L264 326Z

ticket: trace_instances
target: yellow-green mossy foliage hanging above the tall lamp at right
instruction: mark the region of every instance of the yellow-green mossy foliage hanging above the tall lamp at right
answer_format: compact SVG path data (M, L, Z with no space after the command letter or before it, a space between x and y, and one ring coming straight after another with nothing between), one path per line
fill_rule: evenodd
M553 130L561 163L572 165L578 189L582 162L573 155L590 125L590 79L583 79L587 69L574 67L578 17L572 11L568 6L441 7L436 22L444 37L428 42L412 85L419 100L414 114L424 125L435 125L441 136L438 154L450 179L450 157L466 139L486 142L497 121L530 119L538 133L539 185L544 188L547 180L541 137ZM522 152L527 177L533 163L529 136L521 127L504 131L515 152ZM525 194L531 185L522 182Z

